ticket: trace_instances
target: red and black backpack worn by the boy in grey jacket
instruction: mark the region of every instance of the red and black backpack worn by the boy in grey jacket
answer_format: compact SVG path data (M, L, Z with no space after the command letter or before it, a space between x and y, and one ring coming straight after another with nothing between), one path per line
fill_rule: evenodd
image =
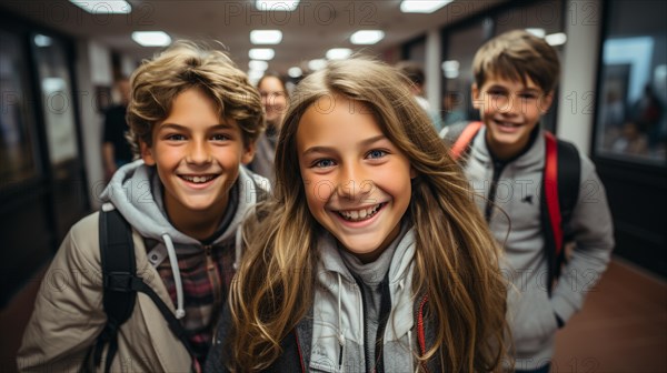
M450 154L456 161L461 160L465 153L469 151L472 139L482 125L482 122L471 122L464 125L455 124L451 127L454 131L450 130L446 133L446 138L454 141ZM566 262L564 246L569 241L569 236L564 228L569 222L579 198L581 163L579 152L571 143L558 140L547 131L545 131L545 142L540 223L545 234L549 271L547 290L550 295L554 282L560 275L560 268Z

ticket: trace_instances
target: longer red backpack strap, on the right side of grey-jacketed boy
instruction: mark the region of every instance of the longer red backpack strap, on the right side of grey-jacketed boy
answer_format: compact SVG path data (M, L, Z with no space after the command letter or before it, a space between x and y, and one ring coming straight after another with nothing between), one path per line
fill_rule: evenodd
M554 232L556 258L558 258L563 250L563 216L560 216L560 202L558 200L558 142L556 137L550 132L545 132L545 142L547 151L545 160L544 191L546 194L549 222L551 224L551 231Z

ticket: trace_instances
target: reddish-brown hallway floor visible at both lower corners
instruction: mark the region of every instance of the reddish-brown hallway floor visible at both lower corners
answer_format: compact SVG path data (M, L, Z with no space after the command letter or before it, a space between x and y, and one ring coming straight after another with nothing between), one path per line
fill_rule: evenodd
M0 372L14 355L39 281L0 311ZM667 373L667 282L615 259L584 310L557 336L552 373Z

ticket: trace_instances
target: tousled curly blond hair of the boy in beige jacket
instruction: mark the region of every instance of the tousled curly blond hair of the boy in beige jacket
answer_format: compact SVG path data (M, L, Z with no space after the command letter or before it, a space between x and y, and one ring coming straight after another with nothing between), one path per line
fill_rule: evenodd
M152 145L153 127L169 115L176 97L190 88L198 88L209 95L220 118L237 122L243 144L255 142L263 131L259 92L222 51L191 41L177 41L152 60L143 61L130 83L128 140L136 157L140 142Z

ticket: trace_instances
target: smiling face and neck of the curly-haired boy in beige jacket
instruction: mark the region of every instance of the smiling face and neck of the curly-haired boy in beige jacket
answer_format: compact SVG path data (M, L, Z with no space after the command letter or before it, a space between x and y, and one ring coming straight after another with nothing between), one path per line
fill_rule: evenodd
M179 93L169 115L157 123L152 145L141 144L165 186L173 225L197 239L212 234L225 214L239 164L252 160L233 120L220 119L213 101L196 88Z

